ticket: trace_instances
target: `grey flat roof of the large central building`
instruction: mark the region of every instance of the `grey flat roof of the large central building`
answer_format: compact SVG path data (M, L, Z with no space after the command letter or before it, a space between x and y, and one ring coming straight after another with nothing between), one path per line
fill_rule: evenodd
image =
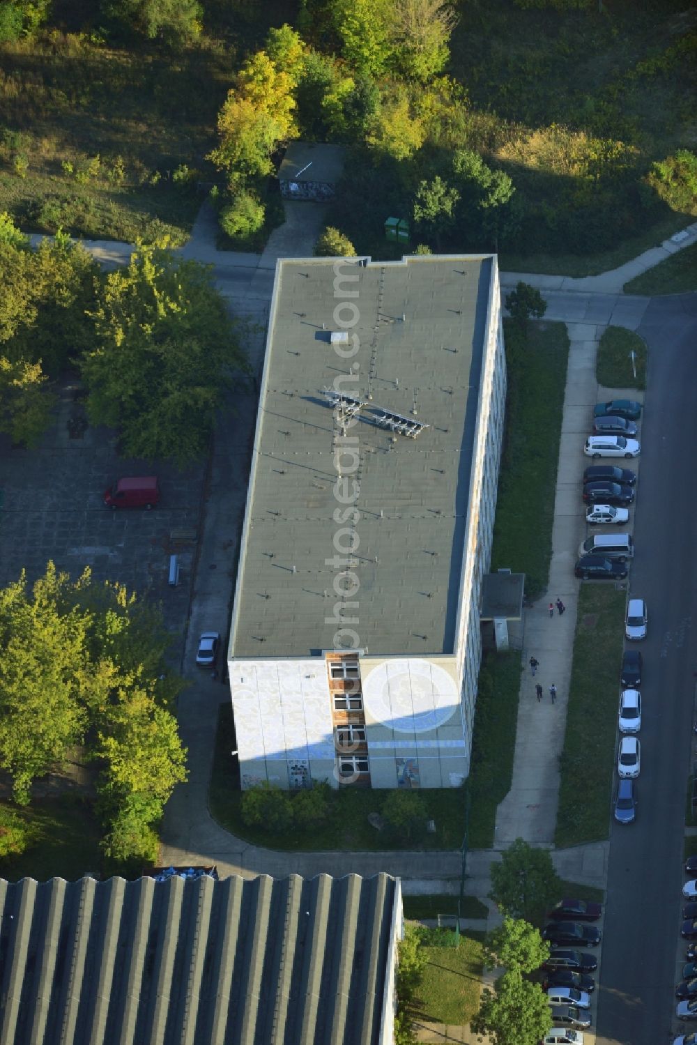
M278 263L232 657L306 656L336 645L338 625L325 618L342 566L325 560L346 526L334 513L350 506L335 496L341 429L323 394L332 387L366 400L347 433L358 454L358 606L347 610L358 620L358 645L371 656L454 650L493 258L341 264L357 279L335 295L331 259ZM342 329L335 307L344 322L357 316L350 358L329 343ZM393 442L375 424L380 409L428 427ZM348 472L351 460L342 462Z

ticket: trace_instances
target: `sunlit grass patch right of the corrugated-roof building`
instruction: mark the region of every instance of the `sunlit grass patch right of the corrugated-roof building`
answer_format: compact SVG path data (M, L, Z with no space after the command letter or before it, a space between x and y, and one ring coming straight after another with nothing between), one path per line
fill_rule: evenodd
M480 1007L482 934L468 932L460 947L425 947L428 961L416 990L416 1021L464 1026Z

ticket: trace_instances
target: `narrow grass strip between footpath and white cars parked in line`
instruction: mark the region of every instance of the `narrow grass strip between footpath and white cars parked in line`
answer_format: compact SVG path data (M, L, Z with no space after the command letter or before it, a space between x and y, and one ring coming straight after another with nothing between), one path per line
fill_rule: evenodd
M560 759L558 847L607 838L625 601L624 588L581 585Z

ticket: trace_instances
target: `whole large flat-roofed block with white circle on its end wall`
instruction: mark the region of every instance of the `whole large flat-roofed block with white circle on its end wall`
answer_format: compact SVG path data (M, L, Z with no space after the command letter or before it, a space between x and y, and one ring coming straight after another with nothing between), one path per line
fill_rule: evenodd
M228 655L243 787L467 776L505 395L494 256L278 262Z

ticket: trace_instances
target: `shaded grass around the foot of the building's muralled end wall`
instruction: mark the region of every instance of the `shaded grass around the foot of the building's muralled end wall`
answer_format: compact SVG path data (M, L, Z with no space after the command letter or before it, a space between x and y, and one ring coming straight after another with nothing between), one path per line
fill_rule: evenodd
M268 831L248 827L241 817L239 776L233 769L230 751L235 747L232 709L220 705L213 756L213 772L208 794L211 816L239 838L255 845L291 852L346 850L452 850L462 844L465 830L463 788L424 788L419 792L427 807L427 817L436 821L433 834L418 838L395 837L376 831L368 822L369 813L380 813L391 793L387 790L343 788L330 795L326 823L292 831ZM291 795L293 797L293 795Z

